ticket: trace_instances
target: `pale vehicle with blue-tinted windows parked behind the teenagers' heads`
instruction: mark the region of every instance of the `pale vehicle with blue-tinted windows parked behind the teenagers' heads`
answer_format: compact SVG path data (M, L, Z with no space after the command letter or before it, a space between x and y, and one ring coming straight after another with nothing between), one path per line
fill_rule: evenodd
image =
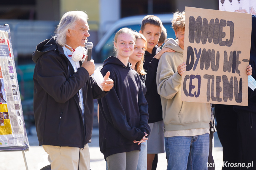
M160 18L160 20L163 23L163 26L166 28L167 38L175 39L175 33L171 28L171 18L173 17L173 14L159 14L156 16ZM101 38L101 40L98 42L98 44L94 48L95 50L93 54L94 62L103 63L104 60L106 60L106 58L108 58L111 55L114 55L113 40L114 40L115 33L124 27L128 27L128 28L131 28L132 30L136 30L137 32L139 32L141 27L141 21L144 17L145 15L125 17L115 22L112 25L112 27L104 34L104 36Z

